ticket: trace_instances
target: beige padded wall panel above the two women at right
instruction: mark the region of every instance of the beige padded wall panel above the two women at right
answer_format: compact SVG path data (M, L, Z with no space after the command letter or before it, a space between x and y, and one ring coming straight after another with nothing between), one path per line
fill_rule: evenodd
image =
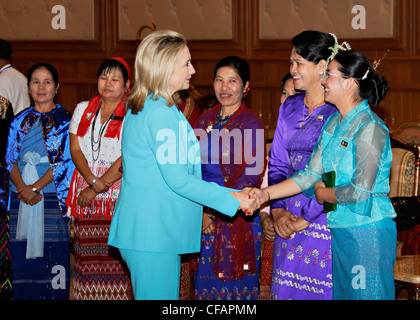
M259 0L262 40L312 29L342 38L390 38L395 0Z

